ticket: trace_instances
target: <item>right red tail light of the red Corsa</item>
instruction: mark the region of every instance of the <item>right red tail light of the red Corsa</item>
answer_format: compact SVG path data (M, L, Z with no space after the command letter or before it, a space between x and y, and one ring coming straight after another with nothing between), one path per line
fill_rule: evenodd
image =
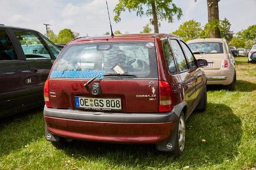
M159 112L172 110L172 89L166 81L159 80Z

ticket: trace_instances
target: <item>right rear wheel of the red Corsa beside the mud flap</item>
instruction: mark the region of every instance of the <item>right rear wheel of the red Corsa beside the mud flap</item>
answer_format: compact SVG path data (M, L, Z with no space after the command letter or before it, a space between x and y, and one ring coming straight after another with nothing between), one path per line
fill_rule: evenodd
M183 124L183 127L184 127L182 133L181 133L181 129L179 129L181 124ZM177 122L176 131L175 131L175 143L177 145L174 146L174 150L171 152L171 154L174 155L175 157L179 157L183 153L183 151L184 151L184 146L185 146L185 129L186 129L185 117L184 117L184 113L181 112L180 113L180 117L179 117L179 121ZM181 140L181 143L183 143L182 145L180 145L179 139L183 139L184 140L184 141Z

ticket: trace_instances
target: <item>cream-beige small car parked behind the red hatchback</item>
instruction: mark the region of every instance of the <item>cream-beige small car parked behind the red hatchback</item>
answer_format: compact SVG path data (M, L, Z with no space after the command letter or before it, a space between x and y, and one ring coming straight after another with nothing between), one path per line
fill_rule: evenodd
M207 59L204 67L207 84L222 84L230 91L235 88L236 62L225 39L197 39L187 42L197 59Z

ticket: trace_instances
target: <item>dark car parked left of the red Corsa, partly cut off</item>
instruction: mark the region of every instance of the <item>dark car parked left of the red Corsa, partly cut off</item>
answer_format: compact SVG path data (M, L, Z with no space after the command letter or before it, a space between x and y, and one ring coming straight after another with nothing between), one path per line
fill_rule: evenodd
M0 25L0 117L43 105L43 86L59 52L37 31Z

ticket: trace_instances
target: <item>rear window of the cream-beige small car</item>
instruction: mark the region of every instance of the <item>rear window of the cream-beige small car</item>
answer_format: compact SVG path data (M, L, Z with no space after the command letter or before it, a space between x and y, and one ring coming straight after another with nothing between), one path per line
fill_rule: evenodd
M220 54L223 53L221 42L195 42L188 44L193 53Z

